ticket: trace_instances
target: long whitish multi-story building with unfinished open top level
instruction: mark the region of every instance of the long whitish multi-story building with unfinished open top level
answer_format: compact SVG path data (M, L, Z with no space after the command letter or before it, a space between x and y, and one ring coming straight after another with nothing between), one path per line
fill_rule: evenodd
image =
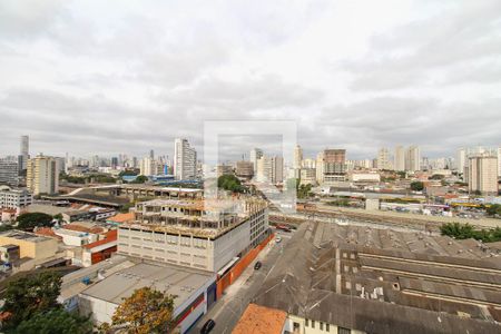
M262 199L154 199L136 206L135 223L120 225L118 253L218 272L267 234Z

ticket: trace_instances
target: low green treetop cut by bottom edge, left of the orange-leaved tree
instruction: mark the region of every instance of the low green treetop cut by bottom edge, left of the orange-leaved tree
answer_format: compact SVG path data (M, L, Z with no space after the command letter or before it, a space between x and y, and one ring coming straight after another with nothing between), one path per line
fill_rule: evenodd
M92 323L88 317L76 313L68 313L62 308L55 308L22 321L16 333L61 333L61 334L90 334Z

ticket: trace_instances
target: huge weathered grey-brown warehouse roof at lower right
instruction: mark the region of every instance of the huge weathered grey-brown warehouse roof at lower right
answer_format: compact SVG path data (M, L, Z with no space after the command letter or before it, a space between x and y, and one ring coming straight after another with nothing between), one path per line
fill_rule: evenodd
M366 228L301 225L255 303L367 333L500 332L500 258L439 252L452 246L441 236L430 255L406 243L422 242L414 233Z

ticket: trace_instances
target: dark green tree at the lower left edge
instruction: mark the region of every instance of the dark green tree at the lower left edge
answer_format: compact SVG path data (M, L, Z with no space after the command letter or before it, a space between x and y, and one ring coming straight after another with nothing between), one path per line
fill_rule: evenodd
M57 302L60 288L61 276L50 272L10 282L3 294L2 306L2 312L11 314L7 327L16 327L37 313L60 307Z

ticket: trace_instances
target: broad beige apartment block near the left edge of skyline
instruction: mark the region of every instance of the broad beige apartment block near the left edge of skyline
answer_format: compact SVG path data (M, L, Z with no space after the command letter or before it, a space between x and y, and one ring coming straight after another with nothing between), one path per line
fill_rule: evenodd
M59 193L58 161L39 155L28 160L26 184L33 195Z

